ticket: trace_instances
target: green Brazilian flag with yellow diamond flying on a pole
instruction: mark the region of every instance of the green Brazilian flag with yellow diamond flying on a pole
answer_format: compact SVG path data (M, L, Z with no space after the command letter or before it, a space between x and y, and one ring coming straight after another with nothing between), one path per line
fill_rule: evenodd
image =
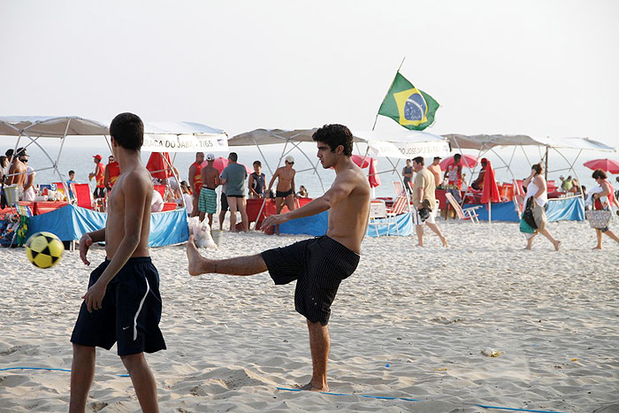
M398 72L378 114L394 119L407 129L423 131L434 122L437 109L439 103L432 96L415 88Z

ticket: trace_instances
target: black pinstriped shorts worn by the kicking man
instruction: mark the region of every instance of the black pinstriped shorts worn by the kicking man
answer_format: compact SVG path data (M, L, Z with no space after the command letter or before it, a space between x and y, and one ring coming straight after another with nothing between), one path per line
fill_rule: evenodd
M310 320L327 325L331 304L342 279L355 272L360 256L326 235L262 253L275 284L297 279L294 308Z

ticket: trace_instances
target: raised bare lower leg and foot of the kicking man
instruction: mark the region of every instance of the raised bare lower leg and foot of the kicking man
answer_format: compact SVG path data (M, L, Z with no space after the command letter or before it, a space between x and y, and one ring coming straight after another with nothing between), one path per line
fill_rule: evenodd
M187 259L189 260L189 274L201 275L208 273L228 275L253 275L267 270L263 256L237 256L223 260L210 260L200 255L195 247L194 235L187 241Z

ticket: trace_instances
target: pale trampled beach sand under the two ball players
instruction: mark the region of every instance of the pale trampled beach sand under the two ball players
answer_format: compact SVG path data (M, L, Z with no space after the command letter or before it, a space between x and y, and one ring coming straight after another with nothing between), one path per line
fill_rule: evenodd
M423 402L278 391L310 379L294 285L275 287L267 274L192 278L183 247L153 249L168 350L148 360L162 411L618 411L619 246L606 238L605 250L592 251L586 223L550 225L560 252L542 237L523 251L516 224L439 226L448 249L427 231L424 249L414 237L363 241L330 323L332 392ZM305 238L225 233L223 248L207 254ZM98 263L103 249L90 258ZM70 369L89 273L77 251L51 270L35 270L23 249L0 249L0 263L0 368ZM88 409L139 411L130 379L116 376L126 374L116 348L97 357ZM66 411L69 375L0 371L0 411Z

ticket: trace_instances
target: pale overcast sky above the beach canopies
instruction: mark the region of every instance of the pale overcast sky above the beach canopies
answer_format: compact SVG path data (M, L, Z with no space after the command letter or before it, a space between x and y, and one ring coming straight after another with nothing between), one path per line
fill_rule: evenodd
M406 57L441 104L428 132L619 145L615 0L0 0L0 15L0 116L369 130Z

